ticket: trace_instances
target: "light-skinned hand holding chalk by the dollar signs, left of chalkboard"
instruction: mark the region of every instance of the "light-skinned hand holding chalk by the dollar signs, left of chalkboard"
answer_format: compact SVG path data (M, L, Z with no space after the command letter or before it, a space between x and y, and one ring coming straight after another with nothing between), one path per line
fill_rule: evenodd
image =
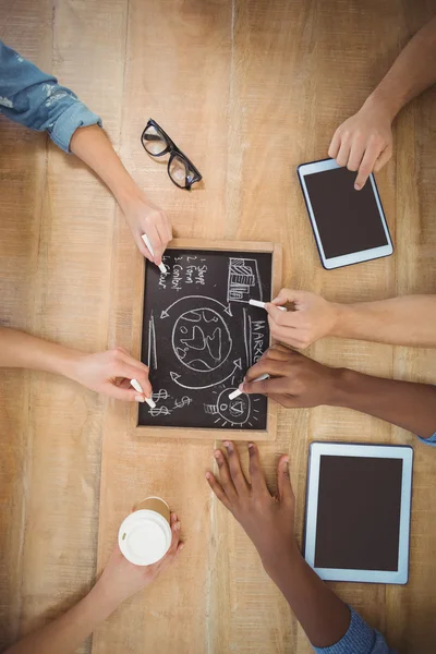
M145 398L152 397L148 367L133 359L123 348L96 354L77 353L66 374L86 388L116 400L144 402ZM144 393L132 388L131 379L141 384Z

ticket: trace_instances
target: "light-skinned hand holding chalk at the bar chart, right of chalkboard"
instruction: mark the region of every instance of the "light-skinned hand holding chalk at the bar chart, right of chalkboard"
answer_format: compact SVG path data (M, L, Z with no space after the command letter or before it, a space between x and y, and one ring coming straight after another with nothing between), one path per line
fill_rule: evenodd
M294 311L283 312L277 308L287 303L292 303ZM293 348L304 349L334 330L338 320L338 304L315 293L281 289L278 296L266 304L269 329L275 339Z

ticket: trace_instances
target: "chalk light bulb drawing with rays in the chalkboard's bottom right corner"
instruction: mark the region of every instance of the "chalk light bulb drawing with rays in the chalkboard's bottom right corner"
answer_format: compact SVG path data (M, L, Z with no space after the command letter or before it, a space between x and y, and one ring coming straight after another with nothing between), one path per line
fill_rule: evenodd
M215 390L214 396L218 396L216 403L203 404L204 412L208 415L217 416L214 424L218 427L226 427L227 425L242 427L245 423L254 427L253 423L258 420L257 414L259 413L258 409L256 409L256 402L261 400L256 397L251 398L247 395L241 395L231 400L229 395L235 389L235 386L230 386L221 390L220 393Z

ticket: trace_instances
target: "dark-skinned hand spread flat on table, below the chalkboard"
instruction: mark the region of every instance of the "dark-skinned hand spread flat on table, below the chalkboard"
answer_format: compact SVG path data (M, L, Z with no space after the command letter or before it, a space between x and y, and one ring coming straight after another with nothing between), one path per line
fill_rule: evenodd
M277 467L277 495L266 485L257 446L249 444L250 483L241 468L239 452L231 441L225 441L228 458L215 451L219 481L206 472L208 484L218 499L253 541L268 574L296 550L294 537L295 498L289 479L288 457L282 455Z

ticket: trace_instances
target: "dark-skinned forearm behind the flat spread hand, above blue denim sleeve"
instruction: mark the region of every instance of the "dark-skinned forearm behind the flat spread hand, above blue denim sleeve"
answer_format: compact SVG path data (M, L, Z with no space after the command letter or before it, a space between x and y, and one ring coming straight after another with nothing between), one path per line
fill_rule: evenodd
M328 647L343 638L350 609L306 564L296 545L287 561L266 569L314 646Z

